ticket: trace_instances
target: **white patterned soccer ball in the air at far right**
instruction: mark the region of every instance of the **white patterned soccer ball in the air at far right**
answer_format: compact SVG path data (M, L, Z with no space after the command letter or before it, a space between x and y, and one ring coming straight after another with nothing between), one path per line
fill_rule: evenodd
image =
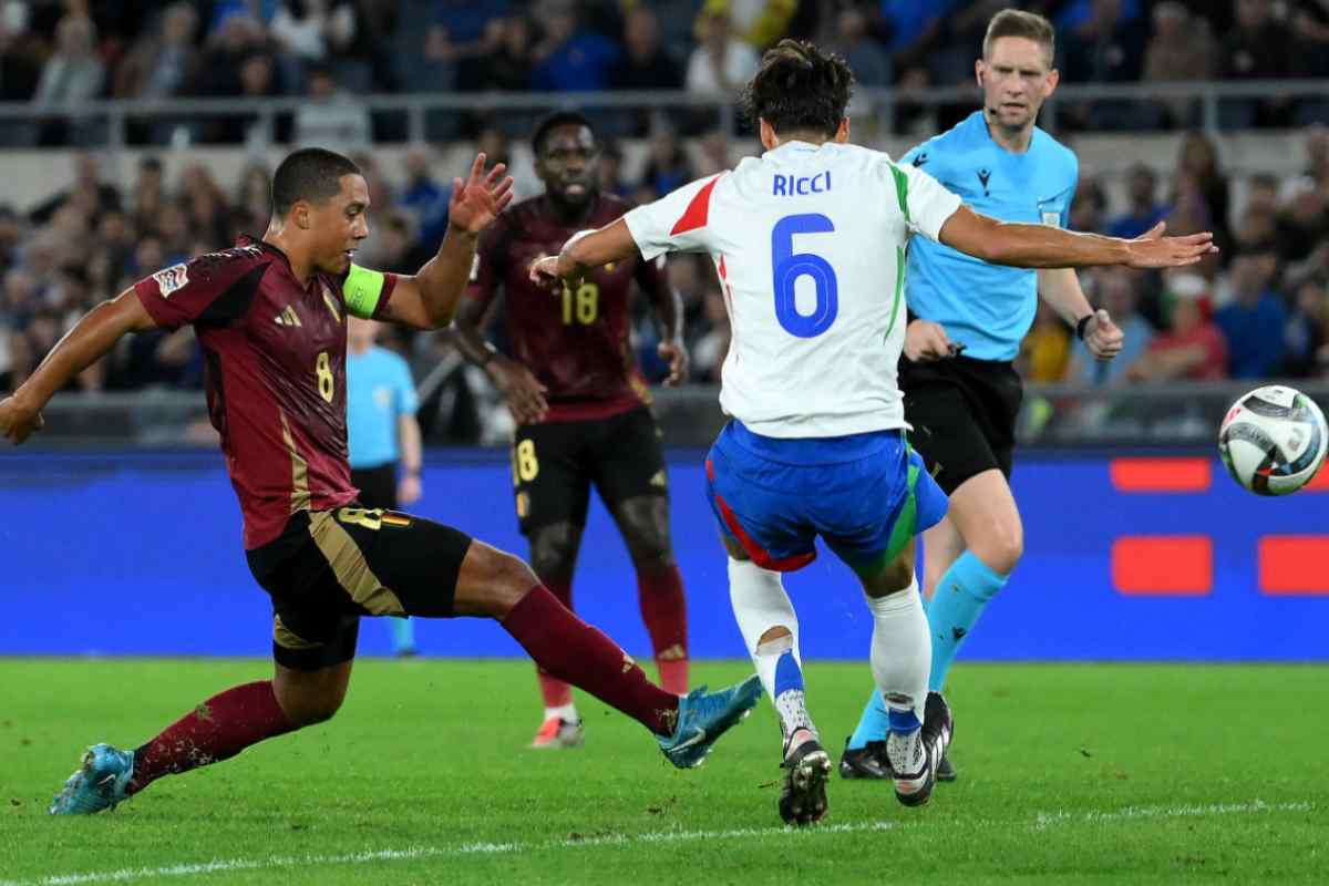
M1325 461L1329 428L1324 413L1294 388L1256 388L1228 409L1219 453L1232 480L1256 495L1294 493Z

